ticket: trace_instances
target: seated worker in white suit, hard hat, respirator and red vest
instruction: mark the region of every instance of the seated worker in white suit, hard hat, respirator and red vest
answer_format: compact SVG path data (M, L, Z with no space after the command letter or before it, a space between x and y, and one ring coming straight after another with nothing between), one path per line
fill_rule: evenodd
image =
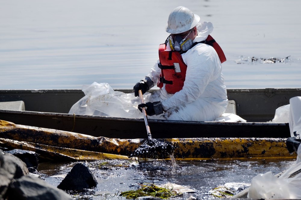
M170 14L166 32L170 36L159 47L159 59L144 80L134 86L144 94L155 84L160 90L146 97L146 113L152 119L212 121L228 105L221 62L225 55L209 35L211 22L183 6Z

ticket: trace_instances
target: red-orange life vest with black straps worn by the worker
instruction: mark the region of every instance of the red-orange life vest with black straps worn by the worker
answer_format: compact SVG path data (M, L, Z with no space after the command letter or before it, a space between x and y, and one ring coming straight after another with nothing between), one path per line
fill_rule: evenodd
M192 47L199 43L212 46L219 55L221 63L226 61L222 48L210 35L208 35L205 41L195 42ZM166 91L171 94L180 91L184 86L187 65L183 61L181 53L185 52L166 50L166 43L159 45L160 63L158 64L158 67L161 69L161 74L157 86L162 88L163 83L165 83Z

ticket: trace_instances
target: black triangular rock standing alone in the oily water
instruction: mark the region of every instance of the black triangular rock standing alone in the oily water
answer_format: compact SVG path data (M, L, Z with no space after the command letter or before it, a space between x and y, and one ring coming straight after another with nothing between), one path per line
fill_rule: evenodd
M85 163L77 163L57 186L64 190L82 190L95 187L97 181Z

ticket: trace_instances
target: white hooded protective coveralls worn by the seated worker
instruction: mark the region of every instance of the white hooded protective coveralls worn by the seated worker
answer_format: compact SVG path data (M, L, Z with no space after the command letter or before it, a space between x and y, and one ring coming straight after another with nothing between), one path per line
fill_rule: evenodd
M193 42L206 40L213 31L210 22L197 25L198 34ZM167 45L168 48L168 45ZM146 102L160 101L163 110L150 119L212 121L220 117L228 105L227 90L222 74L222 64L213 47L199 43L186 53L182 59L187 65L183 89L175 94L165 90L165 84L153 94L147 96ZM157 84L161 69L159 60L145 77L149 88ZM151 81L150 81L151 80Z

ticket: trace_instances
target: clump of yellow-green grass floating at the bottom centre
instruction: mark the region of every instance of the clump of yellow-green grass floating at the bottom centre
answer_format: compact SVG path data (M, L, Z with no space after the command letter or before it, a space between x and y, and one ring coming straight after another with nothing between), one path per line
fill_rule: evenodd
M182 193L178 193L173 189L159 187L153 183L143 183L139 185L141 186L139 189L121 192L120 196L124 196L127 199L129 198L135 199L139 197L149 197L149 196L168 199L168 198L182 195Z

